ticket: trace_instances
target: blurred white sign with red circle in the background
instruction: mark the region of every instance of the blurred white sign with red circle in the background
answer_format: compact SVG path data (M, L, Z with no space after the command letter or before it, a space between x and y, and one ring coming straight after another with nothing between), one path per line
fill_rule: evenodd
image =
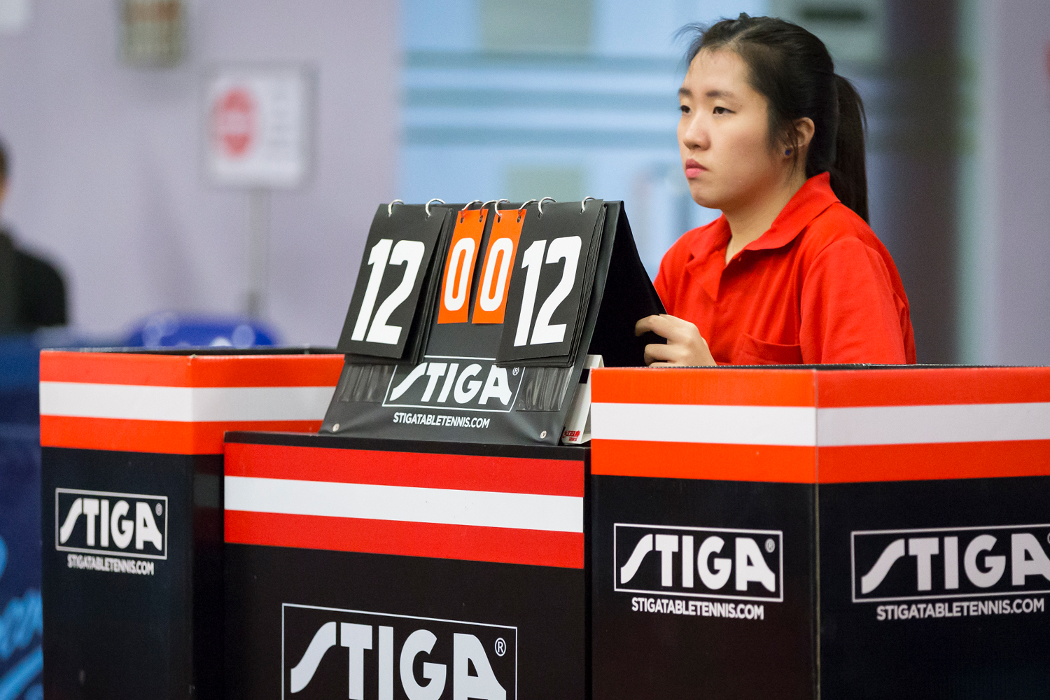
M218 185L296 187L310 167L313 80L300 66L229 66L208 79L207 169Z

